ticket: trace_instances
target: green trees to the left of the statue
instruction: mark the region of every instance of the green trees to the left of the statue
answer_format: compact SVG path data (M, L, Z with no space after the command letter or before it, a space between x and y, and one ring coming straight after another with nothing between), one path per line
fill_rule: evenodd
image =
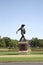
M17 48L18 41L10 39L9 37L0 38L0 48Z

